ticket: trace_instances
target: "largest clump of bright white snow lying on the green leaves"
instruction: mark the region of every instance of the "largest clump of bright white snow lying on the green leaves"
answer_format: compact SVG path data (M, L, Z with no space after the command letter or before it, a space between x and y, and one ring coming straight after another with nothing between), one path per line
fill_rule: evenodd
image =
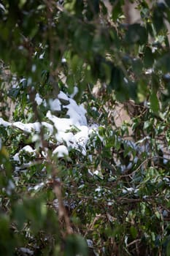
M46 118L47 121L42 121L42 123L34 122L23 124L21 121L16 121L14 123L9 123L4 121L3 118L0 118L0 124L4 127L15 127L20 129L23 132L28 132L33 135L32 141L38 142L39 132L41 130L41 126L47 129L47 136L45 139L47 140L50 136L57 140L56 146L58 143L65 143L66 146L59 146L59 148L55 148L55 152L58 153L58 156L63 156L61 149L63 149L64 154L68 155L69 150L71 148L75 148L78 151L81 151L83 155L86 154L86 145L88 143L89 136L94 130L96 132L98 128L96 127L88 127L88 122L85 117L86 110L83 105L77 105L77 102L74 99L69 98L63 91L60 91L58 94L58 99L50 99L50 108L51 110L61 110L61 101L60 99L64 99L69 102L68 105L63 105L63 108L67 109L66 116L68 118L59 118L53 115L50 110L47 111ZM42 102L44 104L44 99L39 96L39 93L36 93L35 101L37 105L41 105ZM49 133L48 133L49 132ZM36 145L37 146L37 145ZM20 151L28 151L34 152L33 148L30 146L26 146L22 148ZM13 159L20 163L20 151L13 156Z

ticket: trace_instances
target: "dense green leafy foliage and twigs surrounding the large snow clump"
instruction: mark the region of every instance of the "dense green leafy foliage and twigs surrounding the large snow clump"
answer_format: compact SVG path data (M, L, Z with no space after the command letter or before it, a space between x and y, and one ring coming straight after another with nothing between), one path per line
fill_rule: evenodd
M1 1L1 117L43 121L36 93L77 86L100 126L86 156L45 159L42 146L20 155L19 172L12 157L38 142L0 126L1 255L170 255L170 4L131 4L133 23L123 0ZM120 104L131 121L117 126Z

